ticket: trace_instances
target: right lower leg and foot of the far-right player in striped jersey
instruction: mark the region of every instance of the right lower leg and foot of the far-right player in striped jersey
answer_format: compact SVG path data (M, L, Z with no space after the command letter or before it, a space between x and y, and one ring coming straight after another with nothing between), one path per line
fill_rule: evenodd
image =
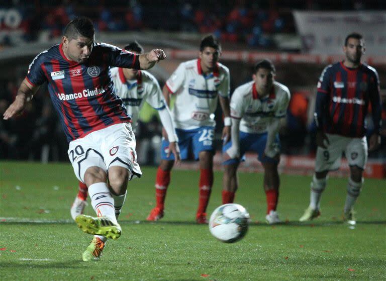
M350 166L350 177L347 184L347 196L343 209L343 219L350 225L356 224L354 204L363 185L363 170L358 166Z

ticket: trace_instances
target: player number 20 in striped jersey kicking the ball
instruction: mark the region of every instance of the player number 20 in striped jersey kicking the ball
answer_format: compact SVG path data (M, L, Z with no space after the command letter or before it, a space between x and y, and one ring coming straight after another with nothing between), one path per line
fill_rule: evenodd
M47 82L69 141L68 157L76 177L88 186L98 216L76 217L84 232L98 235L84 251L84 261L99 258L107 238L121 236L114 207L123 204L128 180L142 173L136 162L131 120L115 95L110 66L147 69L164 58L159 49L138 56L95 43L92 22L76 18L64 29L60 44L34 58L15 101L4 113L6 120L21 113L39 86Z

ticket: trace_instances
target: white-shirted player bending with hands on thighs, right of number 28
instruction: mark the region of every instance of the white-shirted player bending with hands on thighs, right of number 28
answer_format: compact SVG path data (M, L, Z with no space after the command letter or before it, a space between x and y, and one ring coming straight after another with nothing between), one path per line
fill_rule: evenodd
M223 204L233 203L238 188L237 168L247 151L258 154L264 167L268 224L279 223L276 213L279 195L280 120L285 117L289 90L274 80L275 67L263 60L254 67L253 81L236 88L231 99L231 141L223 146Z

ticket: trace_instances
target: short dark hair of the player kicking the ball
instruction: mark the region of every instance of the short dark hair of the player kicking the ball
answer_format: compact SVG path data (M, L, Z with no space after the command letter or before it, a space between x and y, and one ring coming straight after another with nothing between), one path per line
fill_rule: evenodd
M76 39L78 36L93 38L94 33L92 21L86 17L78 17L70 21L63 31L63 35L69 40Z

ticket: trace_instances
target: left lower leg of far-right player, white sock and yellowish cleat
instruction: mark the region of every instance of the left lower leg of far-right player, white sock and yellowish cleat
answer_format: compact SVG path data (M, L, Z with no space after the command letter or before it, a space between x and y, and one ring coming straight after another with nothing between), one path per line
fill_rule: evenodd
M320 216L320 199L327 184L328 171L315 172L310 184L310 205L299 219L301 222L311 221Z

